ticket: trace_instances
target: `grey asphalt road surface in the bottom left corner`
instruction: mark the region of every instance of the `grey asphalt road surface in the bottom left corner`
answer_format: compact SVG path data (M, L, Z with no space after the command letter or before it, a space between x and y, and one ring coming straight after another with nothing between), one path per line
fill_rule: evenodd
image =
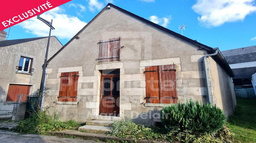
M0 130L0 143L103 143L92 140L59 138L35 134L19 134Z

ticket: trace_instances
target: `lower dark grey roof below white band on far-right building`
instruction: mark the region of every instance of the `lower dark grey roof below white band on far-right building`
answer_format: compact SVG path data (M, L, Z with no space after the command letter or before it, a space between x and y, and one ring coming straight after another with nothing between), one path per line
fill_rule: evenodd
M232 70L235 74L234 78L251 78L255 73L256 67L233 68Z

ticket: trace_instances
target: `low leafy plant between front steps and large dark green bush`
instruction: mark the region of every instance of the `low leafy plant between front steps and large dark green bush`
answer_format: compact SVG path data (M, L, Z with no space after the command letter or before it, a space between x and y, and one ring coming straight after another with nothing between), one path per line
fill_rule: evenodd
M108 132L110 136L128 139L168 139L164 130L158 128L148 128L144 125L133 123L130 119L123 119L121 121L114 121L112 129Z

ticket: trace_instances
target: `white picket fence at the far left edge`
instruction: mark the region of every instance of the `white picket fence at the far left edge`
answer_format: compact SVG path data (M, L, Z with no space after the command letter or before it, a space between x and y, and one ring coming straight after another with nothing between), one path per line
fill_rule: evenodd
M0 101L0 118L12 118L15 101Z

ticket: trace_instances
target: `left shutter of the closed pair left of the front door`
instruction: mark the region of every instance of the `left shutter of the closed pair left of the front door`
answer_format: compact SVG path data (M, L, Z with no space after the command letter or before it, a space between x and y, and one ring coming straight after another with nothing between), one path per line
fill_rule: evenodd
M61 73L58 101L67 101L69 73Z

